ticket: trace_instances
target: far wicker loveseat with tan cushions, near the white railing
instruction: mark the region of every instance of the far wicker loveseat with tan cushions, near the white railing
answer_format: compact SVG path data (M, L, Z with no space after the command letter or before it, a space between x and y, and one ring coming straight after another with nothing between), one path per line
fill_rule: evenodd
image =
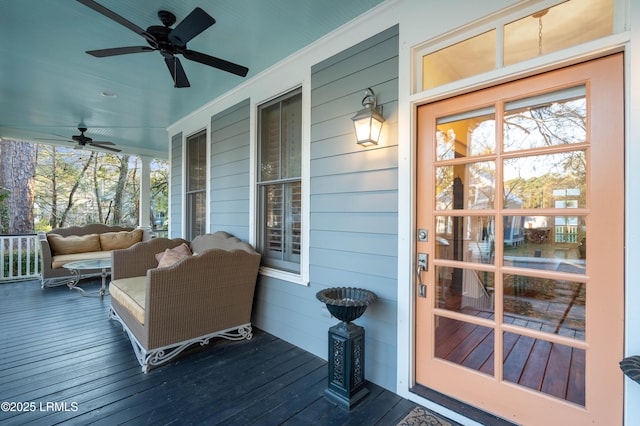
M66 284L73 278L71 271L62 267L65 263L109 258L114 249L150 238L142 229L101 223L40 231L37 236L43 288ZM100 272L100 269L83 271L82 277L100 275Z

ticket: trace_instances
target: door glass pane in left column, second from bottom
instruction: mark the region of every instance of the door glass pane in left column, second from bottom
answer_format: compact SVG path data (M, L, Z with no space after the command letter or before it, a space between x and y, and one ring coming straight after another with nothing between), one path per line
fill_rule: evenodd
M493 272L436 266L436 307L478 315L493 313Z

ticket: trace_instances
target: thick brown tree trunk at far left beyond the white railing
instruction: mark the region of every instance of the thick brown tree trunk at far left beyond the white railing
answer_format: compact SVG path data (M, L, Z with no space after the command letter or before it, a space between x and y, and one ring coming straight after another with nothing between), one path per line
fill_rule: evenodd
M2 140L0 145L0 186L7 191L2 215L2 232L32 233L36 145Z

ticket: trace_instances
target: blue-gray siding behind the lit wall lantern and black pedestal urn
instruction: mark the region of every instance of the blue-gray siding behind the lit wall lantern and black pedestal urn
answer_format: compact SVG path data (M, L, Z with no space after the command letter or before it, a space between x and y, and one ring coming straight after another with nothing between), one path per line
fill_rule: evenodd
M366 378L395 389L397 317L398 28L312 67L309 287L261 277L254 322L327 356L336 323L317 291L366 288L379 297L357 323L366 333ZM385 140L362 148L351 117L372 87L386 119Z

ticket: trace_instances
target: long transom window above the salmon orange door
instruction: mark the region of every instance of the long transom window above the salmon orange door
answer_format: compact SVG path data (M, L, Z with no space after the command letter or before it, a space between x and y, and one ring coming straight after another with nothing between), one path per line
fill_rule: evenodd
M488 31L435 51L418 50L422 69L416 74L421 89L433 89L614 33L614 0L556 2L519 19L503 18ZM569 16L571 19L567 19Z

